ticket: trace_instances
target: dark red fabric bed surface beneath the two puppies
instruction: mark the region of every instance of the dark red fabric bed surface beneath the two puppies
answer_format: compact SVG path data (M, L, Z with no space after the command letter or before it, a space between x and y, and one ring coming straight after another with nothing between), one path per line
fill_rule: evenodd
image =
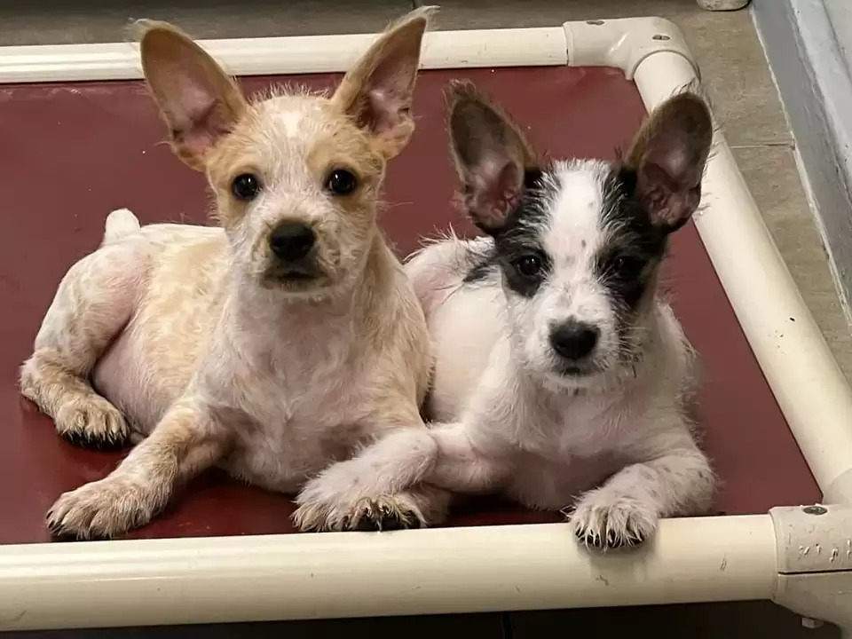
M450 206L454 174L446 151L441 91L466 76L493 93L552 157L613 158L644 109L633 83L603 68L433 71L422 75L418 128L390 166L383 225L400 256L419 238L453 224L470 226ZM335 75L300 76L328 86ZM287 77L244 81L248 91ZM106 214L132 209L143 223L204 222L203 178L162 144L164 129L142 83L0 87L0 543L49 540L43 515L59 493L104 477L121 454L68 445L51 421L20 398L17 371L29 353L57 283L95 248ZM760 513L817 501L819 493L765 383L706 252L690 225L676 235L665 283L703 358L696 411L705 446L722 478L719 512ZM138 537L290 533L282 495L209 473ZM454 525L555 521L493 501L461 510Z

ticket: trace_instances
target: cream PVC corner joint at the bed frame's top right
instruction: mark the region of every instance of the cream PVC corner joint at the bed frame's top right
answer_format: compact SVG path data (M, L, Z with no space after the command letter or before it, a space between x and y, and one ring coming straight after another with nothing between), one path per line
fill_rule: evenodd
M617 67L633 80L643 59L665 51L687 59L700 78L698 66L681 30L663 18L622 18L565 22L570 67ZM603 59L602 59L603 52Z

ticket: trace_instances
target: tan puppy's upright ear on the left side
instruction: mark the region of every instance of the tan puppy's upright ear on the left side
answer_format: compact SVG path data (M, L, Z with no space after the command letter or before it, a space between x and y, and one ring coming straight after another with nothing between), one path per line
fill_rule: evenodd
M233 79L209 54L165 22L140 20L142 68L177 156L193 169L245 112L247 102Z

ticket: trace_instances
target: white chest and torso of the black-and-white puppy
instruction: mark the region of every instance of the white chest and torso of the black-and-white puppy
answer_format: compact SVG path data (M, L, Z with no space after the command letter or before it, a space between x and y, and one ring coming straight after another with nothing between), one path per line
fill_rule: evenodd
M588 387L559 385L525 370L496 270L463 281L470 246L430 247L408 271L436 344L430 417L463 424L475 449L501 459L510 469L505 493L527 506L560 509L642 459L646 441L667 430L680 437L672 422L680 423L689 353L665 304L651 312L651 337L635 367Z

